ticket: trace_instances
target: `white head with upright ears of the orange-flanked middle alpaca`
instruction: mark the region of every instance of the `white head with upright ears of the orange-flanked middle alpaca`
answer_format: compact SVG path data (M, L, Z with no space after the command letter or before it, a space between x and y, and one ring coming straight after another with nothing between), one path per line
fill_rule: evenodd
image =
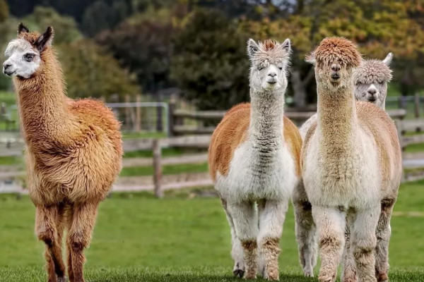
M254 92L285 89L287 67L290 59L290 39L280 44L271 39L264 42L247 42L247 54L251 63L250 87Z

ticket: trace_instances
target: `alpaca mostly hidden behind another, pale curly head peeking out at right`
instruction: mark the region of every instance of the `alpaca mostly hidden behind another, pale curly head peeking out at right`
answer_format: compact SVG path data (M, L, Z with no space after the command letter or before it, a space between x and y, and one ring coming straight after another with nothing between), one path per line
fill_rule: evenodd
M377 59L363 60L358 68L353 71L353 92L355 99L376 104L384 109L387 97L387 83L391 80L391 63L393 55L387 54L382 61ZM314 63L314 61L310 61ZM308 118L300 127L300 136L305 140L305 135L310 126L317 121L317 114ZM312 219L312 207L307 199L303 181L300 180L293 192L293 206L295 207L296 240L299 247L299 260L305 276L313 276L313 269L317 264L317 236L316 226ZM349 229L346 229L349 233ZM348 239L348 238L346 238ZM348 247L346 241L346 247ZM345 257L345 265L354 266ZM346 269L348 270L348 269Z

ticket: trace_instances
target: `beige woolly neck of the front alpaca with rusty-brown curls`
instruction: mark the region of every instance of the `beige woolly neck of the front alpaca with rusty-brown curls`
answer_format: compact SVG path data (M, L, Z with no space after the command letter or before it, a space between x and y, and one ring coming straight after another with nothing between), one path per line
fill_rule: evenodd
M327 153L338 157L350 154L358 124L353 87L329 90L318 85L317 92L317 130L321 135L323 156Z

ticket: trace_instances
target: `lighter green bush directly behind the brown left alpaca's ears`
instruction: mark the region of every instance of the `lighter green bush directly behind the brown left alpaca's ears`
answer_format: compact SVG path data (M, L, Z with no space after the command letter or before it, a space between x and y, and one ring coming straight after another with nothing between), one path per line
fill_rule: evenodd
M69 16L63 16L54 8L42 6L35 7L30 16L23 18L23 23L30 31L44 32L49 25L54 28L54 44L71 43L81 38L75 20Z

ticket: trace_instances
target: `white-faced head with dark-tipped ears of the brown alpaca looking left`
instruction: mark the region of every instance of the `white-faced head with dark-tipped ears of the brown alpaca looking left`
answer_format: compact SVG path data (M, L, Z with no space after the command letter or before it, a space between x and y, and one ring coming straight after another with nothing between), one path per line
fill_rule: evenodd
M22 23L18 25L18 37L8 43L4 55L3 73L18 78L30 78L42 65L42 53L52 45L53 28L45 33L30 32Z

